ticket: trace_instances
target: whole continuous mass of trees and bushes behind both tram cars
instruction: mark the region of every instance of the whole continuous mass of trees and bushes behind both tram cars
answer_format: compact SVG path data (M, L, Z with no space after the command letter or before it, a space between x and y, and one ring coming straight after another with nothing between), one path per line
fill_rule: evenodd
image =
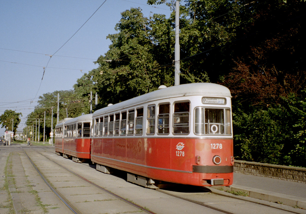
M74 91L60 92L60 119L65 109L69 117L88 113L91 91L101 108L174 84L175 1L147 4L166 4L172 13L122 12L97 68L78 79ZM238 159L306 166L305 9L300 0L180 2L180 82L230 89ZM41 118L46 109L51 117L57 92L40 99L29 118Z

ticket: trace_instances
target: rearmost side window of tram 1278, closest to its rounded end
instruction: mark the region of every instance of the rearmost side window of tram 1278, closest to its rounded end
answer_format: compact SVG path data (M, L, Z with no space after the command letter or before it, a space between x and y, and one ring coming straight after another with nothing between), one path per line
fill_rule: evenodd
M189 110L190 103L174 103L173 113L173 133L188 134L189 133Z

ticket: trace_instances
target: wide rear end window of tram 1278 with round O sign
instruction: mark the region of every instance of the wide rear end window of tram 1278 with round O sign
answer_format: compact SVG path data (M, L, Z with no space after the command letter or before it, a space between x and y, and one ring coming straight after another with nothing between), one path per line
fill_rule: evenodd
M230 120L230 109L198 107L195 109L194 132L202 135L230 135Z

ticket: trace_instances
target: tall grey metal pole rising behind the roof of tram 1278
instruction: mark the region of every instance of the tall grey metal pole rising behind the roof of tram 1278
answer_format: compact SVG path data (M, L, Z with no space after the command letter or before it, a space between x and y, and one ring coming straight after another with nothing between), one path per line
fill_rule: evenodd
M174 85L180 85L180 2L175 2Z

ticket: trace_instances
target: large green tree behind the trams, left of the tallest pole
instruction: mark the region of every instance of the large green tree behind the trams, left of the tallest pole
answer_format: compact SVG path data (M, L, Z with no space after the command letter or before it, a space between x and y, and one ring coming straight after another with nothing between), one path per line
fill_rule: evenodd
M151 22L143 16L140 8L131 8L121 15L115 28L118 33L107 37L112 42L110 50L96 61L99 67L84 75L75 85L75 90L79 91L83 90L81 87L86 81L89 84L95 82L91 88L100 97L100 107L173 83L172 72L169 74L168 68L161 67L156 61L155 34L160 36L161 30L151 27L152 23L160 23L164 17L154 16Z

